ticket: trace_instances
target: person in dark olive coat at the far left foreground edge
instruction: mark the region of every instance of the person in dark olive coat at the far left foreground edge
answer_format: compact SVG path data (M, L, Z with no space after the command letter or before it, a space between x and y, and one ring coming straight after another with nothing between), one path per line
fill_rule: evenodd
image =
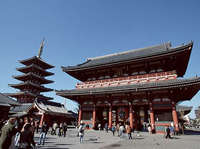
M0 137L0 149L8 149L11 145L12 137L16 134L15 128L16 118L10 118L8 122L2 128L2 134Z

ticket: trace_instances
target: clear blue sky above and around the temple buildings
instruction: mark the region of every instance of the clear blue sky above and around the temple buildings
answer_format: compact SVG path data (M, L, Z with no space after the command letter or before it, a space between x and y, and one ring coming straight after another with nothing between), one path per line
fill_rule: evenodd
M42 59L55 66L49 77L53 89L72 89L77 80L61 66L76 65L88 57L122 52L171 41L194 41L185 78L200 76L200 2L198 0L7 0L0 1L0 92L17 90L16 67L37 55L46 38ZM54 92L46 95L64 103ZM200 105L200 93L185 105ZM75 107L67 100L67 108ZM194 117L194 112L191 113Z

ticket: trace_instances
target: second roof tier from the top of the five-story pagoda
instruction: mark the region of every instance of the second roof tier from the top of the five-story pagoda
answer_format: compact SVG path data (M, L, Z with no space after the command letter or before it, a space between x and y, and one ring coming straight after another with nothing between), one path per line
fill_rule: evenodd
M26 67L17 68L17 70L20 71L20 72L23 72L23 73L39 72L42 76L54 75L54 73L48 72L48 71L42 69L41 67L39 67L35 64L31 64L31 65L26 66Z

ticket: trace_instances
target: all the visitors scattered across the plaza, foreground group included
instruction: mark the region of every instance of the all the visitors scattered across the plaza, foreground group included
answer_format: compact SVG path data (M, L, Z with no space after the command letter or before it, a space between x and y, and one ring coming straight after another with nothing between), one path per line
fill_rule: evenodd
M53 125L49 127L45 121L42 125L39 125L39 121L29 119L28 117L23 119L11 117L6 123L1 123L1 127L0 149L32 149L35 148L36 145L45 144L48 132L50 132L51 135L66 137L68 128L66 122L59 124L54 122ZM77 134L80 138L80 143L83 142L85 130L88 128L89 125L85 125L83 121L80 122ZM129 123L113 123L111 128L108 127L108 123L105 123L104 127L99 123L97 128L99 131L105 130L107 133L111 131L113 136L115 136L117 132L118 137L123 138L127 136L128 139L133 139L132 134L134 133L134 129L130 127ZM150 124L145 124L144 129L152 133ZM37 144L34 141L34 133L40 133ZM165 128L165 138L172 138L175 134L176 131L173 123Z

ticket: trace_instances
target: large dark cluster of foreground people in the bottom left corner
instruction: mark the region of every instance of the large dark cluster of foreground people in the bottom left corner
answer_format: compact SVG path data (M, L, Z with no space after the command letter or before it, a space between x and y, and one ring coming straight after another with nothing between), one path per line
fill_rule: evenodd
M33 119L11 117L1 128L0 149L30 149L35 147Z

